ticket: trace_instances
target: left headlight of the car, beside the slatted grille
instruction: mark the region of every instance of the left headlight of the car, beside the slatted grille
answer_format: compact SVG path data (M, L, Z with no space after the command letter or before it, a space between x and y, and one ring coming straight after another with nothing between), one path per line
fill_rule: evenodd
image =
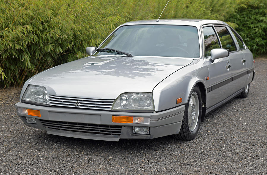
M47 92L43 86L28 85L22 100L47 104Z

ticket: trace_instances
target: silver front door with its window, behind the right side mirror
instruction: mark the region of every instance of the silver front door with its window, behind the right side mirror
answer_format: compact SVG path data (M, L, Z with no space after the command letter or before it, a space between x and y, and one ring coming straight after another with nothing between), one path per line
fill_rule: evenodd
M231 67L226 68L226 66L230 65L228 57L216 59L213 63L209 61L211 58L210 51L221 48L221 45L213 25L203 26L202 29L205 47L204 61L209 69L208 82L210 84L210 87L207 88L206 107L210 108L231 95L231 87L229 86Z

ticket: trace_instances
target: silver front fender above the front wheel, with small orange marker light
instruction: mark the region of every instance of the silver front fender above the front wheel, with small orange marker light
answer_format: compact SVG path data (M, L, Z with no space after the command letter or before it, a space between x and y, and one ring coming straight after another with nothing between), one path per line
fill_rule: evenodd
M207 76L208 67L202 59L194 60L190 65L171 74L153 89L155 111L186 104L191 90L198 82L203 83L205 89L209 87L209 81L205 80ZM182 98L182 103L176 104L177 98Z

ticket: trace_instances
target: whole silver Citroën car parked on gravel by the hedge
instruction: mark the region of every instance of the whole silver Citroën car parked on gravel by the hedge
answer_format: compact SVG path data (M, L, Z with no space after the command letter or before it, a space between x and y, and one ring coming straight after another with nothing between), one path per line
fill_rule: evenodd
M247 97L255 74L243 39L219 20L128 22L86 52L26 81L15 104L26 125L83 139L191 140L207 113Z

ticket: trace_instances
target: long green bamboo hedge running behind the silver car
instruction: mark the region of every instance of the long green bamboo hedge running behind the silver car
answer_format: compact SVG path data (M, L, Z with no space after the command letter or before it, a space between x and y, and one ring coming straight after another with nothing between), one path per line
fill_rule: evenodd
M266 45L266 12L260 23L245 28L238 16L242 8L257 7L262 15L266 5L245 0L171 0L161 18L203 18L228 20L249 38L245 42L257 50ZM246 0L247 2L249 0ZM1 0L0 1L0 86L21 86L34 74L53 66L83 58L85 48L98 46L117 26L131 20L158 18L162 0ZM237 9L237 11L236 11ZM232 14L229 15L228 14ZM235 16L236 15L236 16ZM240 17L240 20L234 20ZM247 15L249 17L249 15ZM259 18L259 19L258 19ZM239 21L242 21L242 23ZM237 26L236 26L237 24ZM246 23L247 24L247 23ZM250 26L250 24L249 24ZM264 27L265 26L265 27ZM252 30L253 29L253 30ZM257 33L252 38L246 31ZM262 36L265 32L265 40ZM252 41L253 40L253 41ZM255 40L255 41L254 41ZM256 46L255 46L256 45ZM253 46L253 47L252 47ZM262 51L266 53L265 50ZM7 79L4 81L5 77Z

